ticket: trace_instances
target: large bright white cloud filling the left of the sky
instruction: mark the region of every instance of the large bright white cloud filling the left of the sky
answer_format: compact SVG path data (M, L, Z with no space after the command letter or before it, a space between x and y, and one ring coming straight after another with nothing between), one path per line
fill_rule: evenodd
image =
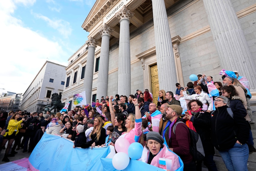
M17 3L32 5L34 1L0 1L0 88L24 93L47 58L67 66L69 55L57 41L24 27L22 20L13 17Z

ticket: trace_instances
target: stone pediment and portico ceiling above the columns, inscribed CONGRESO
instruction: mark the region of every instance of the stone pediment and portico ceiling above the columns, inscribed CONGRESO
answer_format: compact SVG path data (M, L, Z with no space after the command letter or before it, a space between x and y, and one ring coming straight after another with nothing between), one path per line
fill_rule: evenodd
M166 8L172 6L178 0L165 0ZM90 32L96 40L101 38L98 30L106 23L114 28L112 35L119 38L119 20L114 17L115 13L126 6L134 16L130 19L130 31L140 27L143 23L153 18L151 0L97 0L83 22L82 28Z

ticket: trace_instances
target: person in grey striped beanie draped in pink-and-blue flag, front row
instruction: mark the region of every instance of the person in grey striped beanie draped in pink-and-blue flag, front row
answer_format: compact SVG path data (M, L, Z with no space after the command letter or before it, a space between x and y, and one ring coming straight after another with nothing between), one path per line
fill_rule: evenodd
M180 157L167 148L158 132L149 131L146 137L147 141L140 161L159 167L159 158L165 158L172 160L171 170L183 169L182 162L179 162Z

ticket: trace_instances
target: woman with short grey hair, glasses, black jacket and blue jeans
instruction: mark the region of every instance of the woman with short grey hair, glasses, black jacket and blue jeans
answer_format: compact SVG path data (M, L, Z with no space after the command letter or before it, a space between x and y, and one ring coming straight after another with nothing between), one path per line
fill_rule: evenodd
M211 113L211 143L219 151L227 170L248 170L249 124L244 115L230 105L229 99L224 96L215 98L216 110ZM232 116L233 113L233 116Z

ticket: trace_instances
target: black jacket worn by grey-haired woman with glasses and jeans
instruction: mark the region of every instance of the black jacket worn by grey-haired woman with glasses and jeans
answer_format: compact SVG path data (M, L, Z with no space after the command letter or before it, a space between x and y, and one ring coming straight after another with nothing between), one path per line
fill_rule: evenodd
M211 142L217 150L232 148L238 140L246 143L249 137L249 125L244 115L231 108L233 118L227 112L227 106L221 106L211 114Z

